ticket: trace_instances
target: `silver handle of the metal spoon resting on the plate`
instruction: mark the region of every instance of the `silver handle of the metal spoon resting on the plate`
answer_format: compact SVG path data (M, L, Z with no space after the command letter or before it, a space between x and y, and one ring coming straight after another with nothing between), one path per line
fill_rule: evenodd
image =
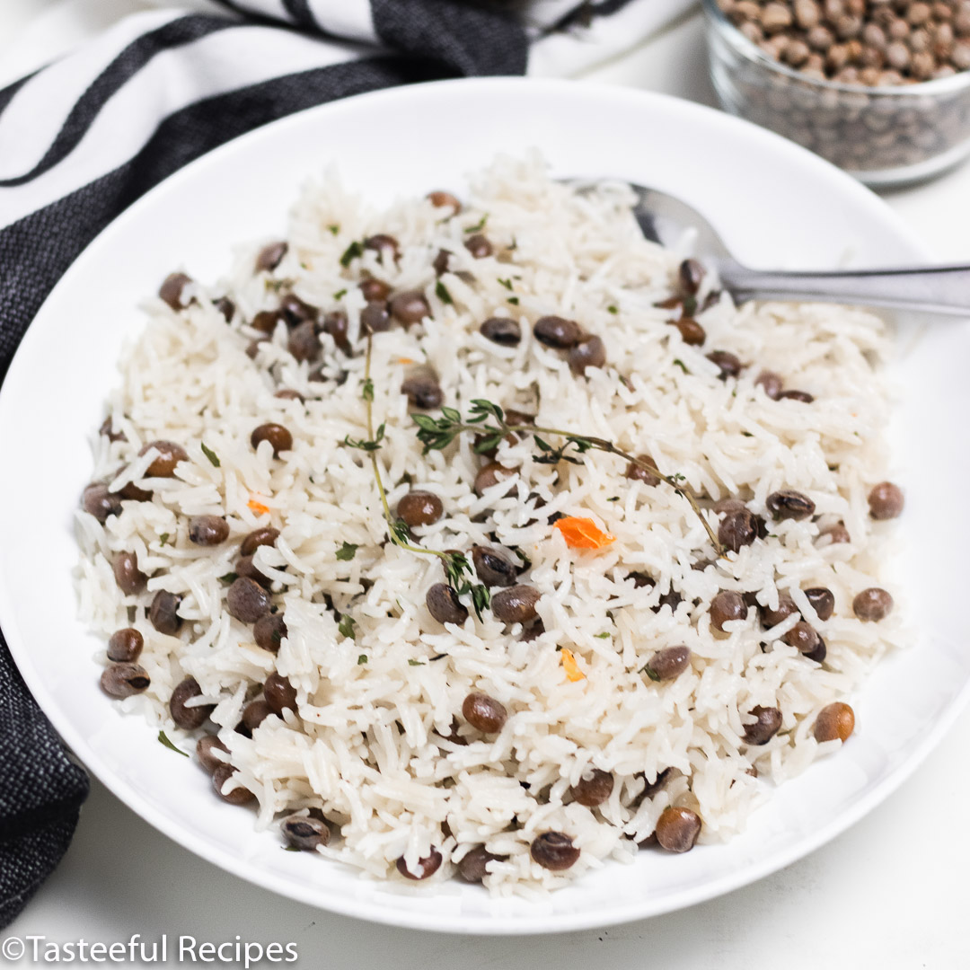
M970 266L787 273L749 270L725 261L720 274L727 291L739 302L821 300L970 316Z

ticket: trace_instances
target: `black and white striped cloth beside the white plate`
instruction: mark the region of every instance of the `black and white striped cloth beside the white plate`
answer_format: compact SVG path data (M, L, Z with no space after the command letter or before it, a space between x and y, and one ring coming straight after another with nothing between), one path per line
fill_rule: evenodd
M0 381L51 287L109 222L259 125L392 84L568 75L693 0L221 0L158 10L0 90ZM200 0L193 0L198 8ZM87 778L0 633L0 927L70 843Z

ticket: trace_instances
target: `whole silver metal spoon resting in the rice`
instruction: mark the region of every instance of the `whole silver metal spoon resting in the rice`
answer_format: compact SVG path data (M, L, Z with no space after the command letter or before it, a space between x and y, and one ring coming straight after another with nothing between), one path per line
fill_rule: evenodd
M814 300L970 316L970 266L822 273L752 270L731 256L714 227L686 202L643 185L631 183L630 187L637 196L633 215L643 235L672 245L686 230L694 230L697 258L717 270L723 286L739 303Z

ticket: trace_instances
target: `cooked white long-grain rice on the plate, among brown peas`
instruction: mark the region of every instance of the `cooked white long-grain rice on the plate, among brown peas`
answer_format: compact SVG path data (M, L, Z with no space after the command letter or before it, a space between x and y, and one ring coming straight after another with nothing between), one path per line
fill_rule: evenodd
M891 526L869 518L866 496L888 469L880 375L891 350L887 325L846 307L738 308L721 295L697 314L706 342L688 345L670 326L674 312L656 306L669 297L684 253L644 241L631 202L621 185L575 192L548 178L537 157L500 159L475 175L467 207L453 218L423 199L374 211L330 175L294 207L289 247L272 273L254 273L261 244L245 246L230 278L190 285L190 306L146 305L146 330L126 349L108 404L125 439L94 437L94 479L115 491L133 482L153 498L124 501L104 526L78 513L81 615L106 635L127 626L142 632L139 663L150 687L118 703L183 748L192 738L173 724L168 701L184 677L198 681L203 695L194 703L215 705L211 722L235 778L258 799L259 826L318 808L339 833L320 852L373 877L400 879L401 857L418 871L434 848L444 860L429 880L436 883L485 845L501 857L485 879L494 893L555 889L607 859L630 860L671 804L699 814L701 843L740 831L771 783L839 747L813 736L824 705L850 696L905 642L894 615L863 623L851 606L862 589L884 585ZM463 243L475 231L494 255L471 256ZM372 249L348 250L374 233L401 243L397 263ZM438 279L441 249L452 256ZM385 429L376 455L390 507L413 483L445 509L415 541L442 551L499 545L526 557L520 581L540 593L544 626L532 640L488 610L460 627L438 624L425 594L442 581L440 561L387 541L369 455L345 443L368 437L362 275L396 292L420 290L432 309L421 324L373 339L372 408ZM705 279L698 300L715 285ZM345 356L322 335L317 379L315 364L288 352L283 323L254 359L246 354L260 335L242 321L275 309L288 292L346 313L355 353ZM231 324L212 305L225 295L238 307ZM577 377L565 354L533 339L534 321L549 313L600 336L606 366ZM485 339L478 328L491 316L518 320L521 342ZM748 365L739 378L719 379L706 357L715 348ZM763 541L717 559L703 524L669 485L632 481L623 459L601 452L577 464L540 464L529 436L502 440L498 461L518 473L478 496L481 461L468 435L422 454L401 392L417 364L436 372L445 404L463 414L486 399L536 414L539 426L649 454L664 474L683 475L705 507L736 496L770 518L768 495L788 488L814 501L816 514L773 522ZM762 369L783 374L814 403L769 400L755 383ZM280 387L306 403L276 398ZM253 429L266 422L289 430L292 450L275 458L269 443L252 447ZM154 452L139 451L156 439L187 451L175 477L145 477ZM549 525L557 512L588 517L615 541L570 549ZM230 539L193 545L187 517L201 514L225 516ZM716 530L717 516L704 514ZM826 544L820 530L837 522L851 541ZM225 604L240 540L270 524L279 538L254 563L273 580L285 615L277 655L256 646L252 628ZM112 562L121 551L134 552L151 577L145 592L117 588ZM655 585L634 587L630 572ZM802 593L813 586L835 597L824 623ZM146 617L163 589L181 597L177 636ZM824 635L824 665L783 642L795 617L762 630L751 610L727 624L727 635L712 630L708 606L721 590L756 594L771 608L780 592L791 593ZM671 592L680 601L657 608ZM692 662L679 677L654 683L642 672L657 650L681 644ZM563 648L581 679L566 677ZM99 660L108 663L104 654ZM246 737L235 729L242 709L274 670L296 688L299 714L286 710ZM463 724L471 691L508 710L498 734ZM744 741L756 705L783 714L781 730L761 747ZM452 739L456 717L461 736ZM569 794L591 768L615 780L595 809ZM565 872L530 855L533 839L550 830L580 850Z

